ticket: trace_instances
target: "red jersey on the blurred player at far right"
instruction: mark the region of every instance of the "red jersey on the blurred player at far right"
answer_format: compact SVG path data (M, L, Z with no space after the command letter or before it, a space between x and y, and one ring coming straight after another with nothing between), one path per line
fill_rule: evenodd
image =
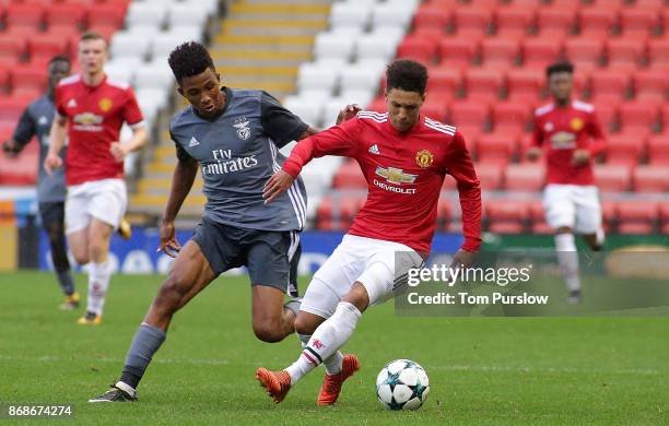
M572 165L575 150L585 149L594 159L602 153L606 137L590 104L573 100L565 107L545 105L535 111L535 146L543 146L547 155L548 182L595 185L592 162Z

